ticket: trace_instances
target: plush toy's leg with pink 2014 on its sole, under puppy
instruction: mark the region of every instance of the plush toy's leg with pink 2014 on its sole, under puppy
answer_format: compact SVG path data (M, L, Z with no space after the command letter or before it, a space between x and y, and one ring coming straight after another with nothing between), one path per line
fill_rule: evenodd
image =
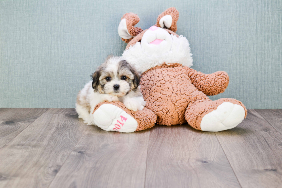
M105 131L131 133L155 125L157 115L148 108L133 112L119 101L99 103L93 110L94 123Z

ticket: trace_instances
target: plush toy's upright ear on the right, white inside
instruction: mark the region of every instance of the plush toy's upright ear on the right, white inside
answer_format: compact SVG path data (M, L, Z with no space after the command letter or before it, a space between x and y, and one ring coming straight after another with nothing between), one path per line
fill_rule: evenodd
M168 8L158 16L156 26L176 32L177 30L176 22L178 20L178 17L179 17L179 12L178 10L176 10L176 8L174 7Z

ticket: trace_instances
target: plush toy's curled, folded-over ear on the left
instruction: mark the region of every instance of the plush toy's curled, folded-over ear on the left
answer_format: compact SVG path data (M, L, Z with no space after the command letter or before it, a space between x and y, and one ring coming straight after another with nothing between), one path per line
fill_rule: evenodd
M143 30L140 27L134 27L140 18L137 14L126 13L119 23L119 36L125 43L129 43L133 37L137 36Z

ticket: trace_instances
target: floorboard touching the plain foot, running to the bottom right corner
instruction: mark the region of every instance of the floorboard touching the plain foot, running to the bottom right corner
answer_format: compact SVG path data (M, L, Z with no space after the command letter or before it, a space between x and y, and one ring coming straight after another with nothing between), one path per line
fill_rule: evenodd
M216 136L242 187L281 187L282 136L258 112Z

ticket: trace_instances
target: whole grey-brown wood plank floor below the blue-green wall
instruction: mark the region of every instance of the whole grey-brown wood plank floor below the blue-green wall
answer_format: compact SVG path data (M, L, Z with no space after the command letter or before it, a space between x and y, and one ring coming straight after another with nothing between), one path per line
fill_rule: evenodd
M217 133L118 133L74 109L1 108L0 187L282 187L282 110Z

